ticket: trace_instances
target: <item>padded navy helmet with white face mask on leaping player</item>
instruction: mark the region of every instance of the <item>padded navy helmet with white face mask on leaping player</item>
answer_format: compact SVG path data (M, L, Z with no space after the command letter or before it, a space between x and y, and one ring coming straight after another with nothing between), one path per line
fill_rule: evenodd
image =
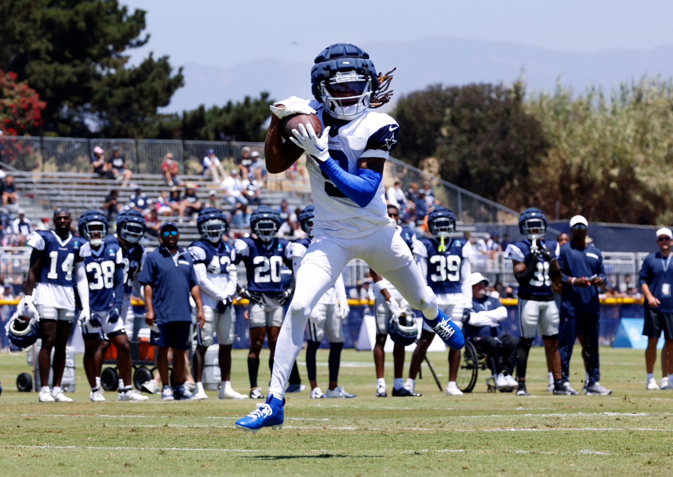
M330 44L314 63L311 91L330 116L351 120L369 108L379 82L365 50L350 43Z

